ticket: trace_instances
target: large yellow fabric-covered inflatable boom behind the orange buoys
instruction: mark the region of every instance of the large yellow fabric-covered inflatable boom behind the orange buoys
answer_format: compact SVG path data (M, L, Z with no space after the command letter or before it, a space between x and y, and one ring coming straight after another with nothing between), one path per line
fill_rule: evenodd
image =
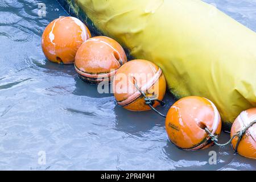
M229 129L256 106L256 33L215 7L199 0L59 1L135 58L162 68L177 98L211 100Z

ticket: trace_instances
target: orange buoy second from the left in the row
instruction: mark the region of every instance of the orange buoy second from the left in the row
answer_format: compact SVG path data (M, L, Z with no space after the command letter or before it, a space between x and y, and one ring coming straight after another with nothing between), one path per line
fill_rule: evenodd
M75 69L82 80L92 84L113 80L127 62L122 46L114 39L96 36L86 40L76 53Z

